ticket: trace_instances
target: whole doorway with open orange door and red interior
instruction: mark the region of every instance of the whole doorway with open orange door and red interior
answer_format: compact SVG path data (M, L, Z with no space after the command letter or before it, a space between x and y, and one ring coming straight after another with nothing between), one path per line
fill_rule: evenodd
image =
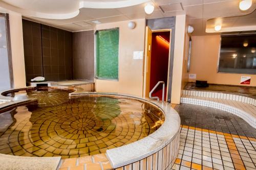
M149 97L150 91L159 81L165 83L164 101L168 99L168 68L170 57L170 37L172 30L153 30L146 27L143 96ZM162 100L163 86L160 84L152 93Z

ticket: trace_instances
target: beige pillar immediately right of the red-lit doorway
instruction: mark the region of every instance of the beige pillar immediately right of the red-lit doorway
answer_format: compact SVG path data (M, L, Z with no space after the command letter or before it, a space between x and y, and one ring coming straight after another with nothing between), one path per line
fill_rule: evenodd
M171 102L175 104L180 103L180 96L182 86L187 81L185 63L185 44L186 44L186 15L176 16L175 26L175 43L174 43L174 68L173 68L173 83Z

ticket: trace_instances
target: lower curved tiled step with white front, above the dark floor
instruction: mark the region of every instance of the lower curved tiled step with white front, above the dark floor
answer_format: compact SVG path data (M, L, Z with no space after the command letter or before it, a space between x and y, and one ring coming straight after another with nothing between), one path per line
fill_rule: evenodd
M256 128L256 107L233 100L218 99L218 98L207 98L193 95L182 95L181 103L207 106L223 111L227 111L234 115L243 118L249 125Z

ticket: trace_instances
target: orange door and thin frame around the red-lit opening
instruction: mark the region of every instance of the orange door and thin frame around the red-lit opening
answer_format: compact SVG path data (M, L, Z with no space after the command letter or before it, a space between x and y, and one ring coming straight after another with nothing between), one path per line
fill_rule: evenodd
M172 29L161 29L161 30L151 30L150 27L145 28L145 47L144 47L144 60L143 60L143 98L148 98L150 93L150 67L151 67L151 49L152 49L152 33L157 32L170 32L170 44L169 44L169 56L168 56L168 73L167 73L167 84L166 86L166 100L170 99L168 96L169 90L169 73L170 73L170 55L171 55L171 43L172 43Z

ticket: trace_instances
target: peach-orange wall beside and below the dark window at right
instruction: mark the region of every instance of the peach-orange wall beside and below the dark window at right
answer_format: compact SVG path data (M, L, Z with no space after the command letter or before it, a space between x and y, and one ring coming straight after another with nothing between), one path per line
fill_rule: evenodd
M189 74L197 74L197 80L207 80L208 83L214 84L240 85L241 76L250 76L250 86L256 86L256 75L217 73L220 35L192 36L191 39Z

